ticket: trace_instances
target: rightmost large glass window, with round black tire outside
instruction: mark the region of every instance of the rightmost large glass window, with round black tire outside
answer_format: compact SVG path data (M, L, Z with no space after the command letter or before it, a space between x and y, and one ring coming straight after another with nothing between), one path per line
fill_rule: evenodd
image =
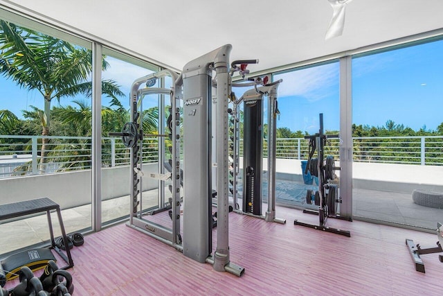
M441 219L442 69L443 41L352 60L354 216L428 229Z

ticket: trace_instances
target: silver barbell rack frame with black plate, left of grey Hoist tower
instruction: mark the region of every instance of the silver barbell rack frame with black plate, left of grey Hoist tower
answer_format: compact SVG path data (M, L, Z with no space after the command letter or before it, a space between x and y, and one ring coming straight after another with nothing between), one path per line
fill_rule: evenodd
M170 89L153 87L156 80L159 78L165 78L169 76L172 78L172 87ZM160 137L160 151L159 151L159 174L151 174L151 177L159 179L159 207L164 207L164 181L170 178L172 180L172 198L170 200L170 208L172 209L172 215L178 216L180 214L180 181L181 178L175 178L172 176L180 175L180 99L181 99L181 88L175 85L175 80L179 78L178 74L169 69L159 71L157 73L152 73L142 78L135 80L131 87L130 93L130 105L131 105L131 121L125 123L122 132L110 132L110 136L121 136L123 144L130 148L131 162L130 162L130 195L131 211L129 214L129 222L127 225L133 227L141 232L154 236L167 243L181 249L181 234L180 234L180 220L172 219L172 229L164 227L154 223L147 218L143 218L143 138L144 137ZM146 87L140 88L141 85L146 84ZM141 125L141 113L143 110L143 98L150 94L158 94L163 96L170 96L171 104L171 121L169 125L170 134L143 134L143 128ZM159 118L164 118L164 100L160 100L159 106ZM163 121L159 123L159 130L163 131ZM164 132L164 131L163 131ZM163 155L164 155L164 141L162 138L169 137L172 141L172 158L170 163L177 164L177 166L172 166L172 171L170 173L164 173L163 168Z

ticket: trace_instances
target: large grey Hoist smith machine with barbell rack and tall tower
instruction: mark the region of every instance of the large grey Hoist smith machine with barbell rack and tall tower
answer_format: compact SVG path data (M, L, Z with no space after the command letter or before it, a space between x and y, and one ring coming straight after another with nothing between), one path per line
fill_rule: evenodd
M131 91L131 122L120 133L127 147L131 148L131 214L127 225L177 250L201 263L210 263L217 271L231 272L240 277L244 268L230 262L228 245L228 98L231 93L229 55L232 46L227 44L200 58L188 62L180 76L164 70L134 82ZM235 70L237 71L237 70ZM212 96L213 73L216 94ZM171 89L139 87L155 78L170 76ZM172 141L170 173L158 174L172 180L171 218L172 229L163 227L143 217L142 210L142 153L141 98L145 94L170 95L171 114L168 119ZM180 136L180 101L183 100L183 139ZM216 134L212 134L212 102L216 104ZM212 137L217 139L215 155L211 162ZM181 176L180 143L183 144L183 177ZM217 247L212 245L212 178L216 167L217 177ZM183 184L183 230L180 233L180 192ZM160 189L160 188L159 188Z

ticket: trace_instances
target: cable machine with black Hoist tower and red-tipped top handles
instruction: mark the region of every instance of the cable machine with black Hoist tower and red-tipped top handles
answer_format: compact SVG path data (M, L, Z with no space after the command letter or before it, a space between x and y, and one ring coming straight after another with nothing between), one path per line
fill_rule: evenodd
M278 111L277 89L282 80L268 83L265 78L251 78L250 82L234 83L235 87L253 86L241 98L235 100L233 95L233 110L230 112L231 127L231 162L230 193L233 195L235 211L258 218L267 222L284 224L285 219L275 218L275 130ZM257 87L257 85L262 85ZM262 216L262 152L263 152L263 101L268 97L268 209ZM244 103L244 134L243 134L243 196L242 211L237 203L237 183L239 175L239 116L238 106Z

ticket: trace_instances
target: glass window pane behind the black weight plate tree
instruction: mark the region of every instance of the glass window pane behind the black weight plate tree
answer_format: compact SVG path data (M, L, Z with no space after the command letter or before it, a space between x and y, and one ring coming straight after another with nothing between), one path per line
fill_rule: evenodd
M276 201L296 207L315 208L306 203L307 189L318 190L316 178L304 176L308 158L305 135L316 134L323 114L324 132L338 134L339 66L333 61L310 67L276 73L273 80L282 79L278 87L276 141ZM333 155L338 162L338 139L328 141L325 156ZM338 184L337 172L334 182Z

